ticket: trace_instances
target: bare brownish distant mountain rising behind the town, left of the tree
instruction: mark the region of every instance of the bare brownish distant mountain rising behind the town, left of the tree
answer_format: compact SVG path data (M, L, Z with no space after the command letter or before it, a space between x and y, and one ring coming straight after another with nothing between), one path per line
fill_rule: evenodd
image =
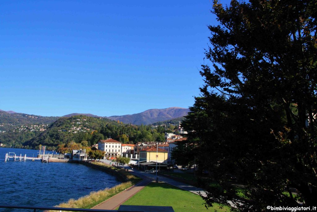
M188 112L188 108L169 107L165 109L150 109L142 113L135 113L132 115L110 116L107 118L111 120L119 120L127 124L131 123L135 125L148 125L158 121L165 121L186 116Z

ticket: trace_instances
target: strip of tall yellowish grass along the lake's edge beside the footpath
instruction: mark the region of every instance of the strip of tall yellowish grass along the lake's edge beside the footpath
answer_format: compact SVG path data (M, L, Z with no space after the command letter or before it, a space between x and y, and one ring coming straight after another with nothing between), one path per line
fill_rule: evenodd
M123 169L115 168L113 166L107 165L105 163L100 162L93 162L93 164L110 168L113 170L116 170L119 172L120 175L124 176L126 179L128 179L127 182L121 183L117 186L114 186L112 188L105 188L103 190L99 191L93 191L90 192L89 195L83 196L77 200L70 199L68 202L63 202L59 205L56 205L55 207L61 207L61 208L84 208L84 209L90 209L99 203L109 199L110 197L120 193L121 191L125 190L126 188L129 188L139 182L141 178L134 176L133 174L129 174L128 172L124 171ZM51 212L53 210L50 210Z

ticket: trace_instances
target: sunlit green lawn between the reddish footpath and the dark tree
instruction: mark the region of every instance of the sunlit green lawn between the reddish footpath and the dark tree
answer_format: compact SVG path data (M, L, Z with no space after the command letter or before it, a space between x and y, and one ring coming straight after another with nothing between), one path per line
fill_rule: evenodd
M123 205L172 206L175 212L181 211L230 211L229 207L219 209L215 204L208 210L204 200L196 194L179 189L166 183L150 183Z

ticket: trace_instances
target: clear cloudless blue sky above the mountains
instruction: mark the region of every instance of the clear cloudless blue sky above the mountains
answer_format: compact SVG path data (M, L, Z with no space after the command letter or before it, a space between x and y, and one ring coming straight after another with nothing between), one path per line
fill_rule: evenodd
M228 1L222 1L228 3ZM212 1L2 1L0 109L42 116L189 107Z

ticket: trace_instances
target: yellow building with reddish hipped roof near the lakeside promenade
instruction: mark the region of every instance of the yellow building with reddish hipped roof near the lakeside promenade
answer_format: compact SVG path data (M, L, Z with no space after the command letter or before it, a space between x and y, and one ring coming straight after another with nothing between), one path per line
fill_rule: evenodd
M157 154L156 154L157 151ZM140 162L142 161L146 161L146 162L156 162L156 158L157 161L159 163L167 163L167 155L168 152L164 149L158 148L156 149L156 147L148 147L145 149L142 149L139 151L140 153Z

